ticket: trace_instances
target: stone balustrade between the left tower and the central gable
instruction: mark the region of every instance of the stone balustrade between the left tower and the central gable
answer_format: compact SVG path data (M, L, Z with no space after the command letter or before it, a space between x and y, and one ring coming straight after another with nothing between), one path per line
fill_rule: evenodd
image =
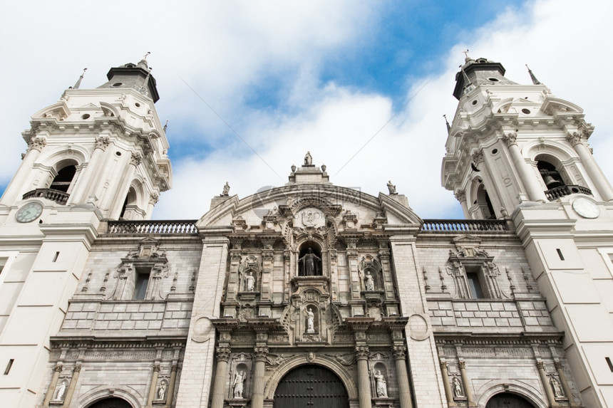
M195 219L168 221L108 221L107 234L115 235L180 235L197 234Z

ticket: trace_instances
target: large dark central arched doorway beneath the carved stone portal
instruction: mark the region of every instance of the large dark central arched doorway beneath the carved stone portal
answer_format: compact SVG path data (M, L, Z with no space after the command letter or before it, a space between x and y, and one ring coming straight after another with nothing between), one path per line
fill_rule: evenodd
M334 372L302 365L285 375L274 392L274 408L349 408L347 390Z

